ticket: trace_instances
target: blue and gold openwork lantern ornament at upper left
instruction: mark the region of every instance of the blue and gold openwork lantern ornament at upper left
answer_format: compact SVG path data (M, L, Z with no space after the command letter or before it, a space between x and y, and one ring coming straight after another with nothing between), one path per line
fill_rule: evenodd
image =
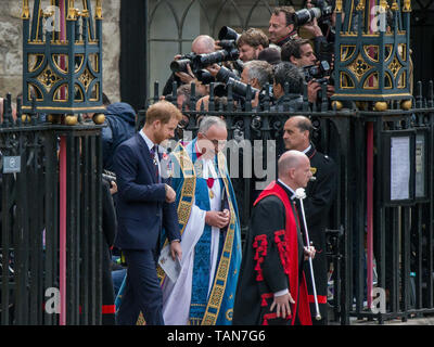
M23 112L103 113L102 2L23 0ZM62 36L64 35L64 36ZM69 118L68 118L69 119ZM68 124L75 124L69 119Z

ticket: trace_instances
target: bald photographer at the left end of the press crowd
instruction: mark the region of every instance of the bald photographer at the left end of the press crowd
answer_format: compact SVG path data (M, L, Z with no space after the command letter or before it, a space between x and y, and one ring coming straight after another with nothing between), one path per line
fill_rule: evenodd
M193 43L191 44L191 51L194 54L212 53L215 51L215 44L216 42L212 37L207 35L200 35L194 39ZM175 56L175 60L179 59L181 59L181 55ZM187 72L177 72L171 74L163 89L163 95L171 94L174 81L178 83L178 87L181 85L191 83L193 81L196 83L197 87L201 86L201 82L194 76L191 67L188 66ZM201 92L206 93L206 89L202 87Z

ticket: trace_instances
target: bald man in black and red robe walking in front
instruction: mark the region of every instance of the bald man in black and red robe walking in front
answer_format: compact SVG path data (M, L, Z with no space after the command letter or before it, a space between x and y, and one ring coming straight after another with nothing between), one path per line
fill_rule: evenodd
M308 157L285 152L278 175L254 203L232 324L311 325L303 262L315 248L304 246L294 205L295 191L311 177Z

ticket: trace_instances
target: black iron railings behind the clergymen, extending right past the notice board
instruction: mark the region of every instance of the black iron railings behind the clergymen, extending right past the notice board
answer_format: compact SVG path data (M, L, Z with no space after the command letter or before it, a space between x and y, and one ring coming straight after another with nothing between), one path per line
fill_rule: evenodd
M286 111L270 110L268 101L254 108L250 92L241 107L233 102L230 88L225 103L221 100L216 103L213 88L208 110L202 106L196 111L194 87L190 100L179 105L189 121L180 127L178 138L182 138L186 130L191 131L187 140L195 137L200 116L222 116L228 126L228 140L242 134L242 139L251 142L261 141L263 149L267 140L275 140L275 147L268 147L267 154L260 153L266 157L283 151L282 128L288 117L307 115L316 127L312 142L318 151L335 160L337 197L328 226L328 255L334 269L335 320L349 324L350 317L375 318L382 323L392 318L406 320L413 314L433 312L433 83L429 86L427 99L423 98L422 86L418 83L414 108L399 110L399 102L391 102L391 110L385 112L369 111L373 106L369 102L359 103L360 107L352 103L349 108L331 110L327 100L311 111L306 98L303 112L289 112L285 102L283 110ZM154 91L151 103L159 99L157 82ZM174 92L170 99L175 104L176 97ZM143 110L139 113L138 128L144 118ZM373 127L371 164L367 163L369 127ZM404 153L396 152L399 145ZM399 167L401 163L408 166ZM370 179L369 175L372 175ZM399 185L403 176L407 187ZM243 232L253 204L253 184L258 179L233 179ZM368 181L372 181L372 185L368 185ZM400 196L404 191L408 192L406 198ZM372 234L367 232L369 193L373 194ZM378 280L368 285L367 279L373 279L374 270ZM383 295L376 296L373 292L373 296L368 296L368 288L375 288ZM410 305L411 296L414 296L413 305ZM368 299L372 307L367 306Z

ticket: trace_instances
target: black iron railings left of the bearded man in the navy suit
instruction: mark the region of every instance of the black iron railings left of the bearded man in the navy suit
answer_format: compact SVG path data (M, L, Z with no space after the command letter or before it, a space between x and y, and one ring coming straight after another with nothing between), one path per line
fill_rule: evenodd
M101 126L52 125L41 114L22 116L20 108L14 120L7 102L0 125L0 323L55 325L64 314L66 324L101 324ZM66 197L64 235L61 196Z

